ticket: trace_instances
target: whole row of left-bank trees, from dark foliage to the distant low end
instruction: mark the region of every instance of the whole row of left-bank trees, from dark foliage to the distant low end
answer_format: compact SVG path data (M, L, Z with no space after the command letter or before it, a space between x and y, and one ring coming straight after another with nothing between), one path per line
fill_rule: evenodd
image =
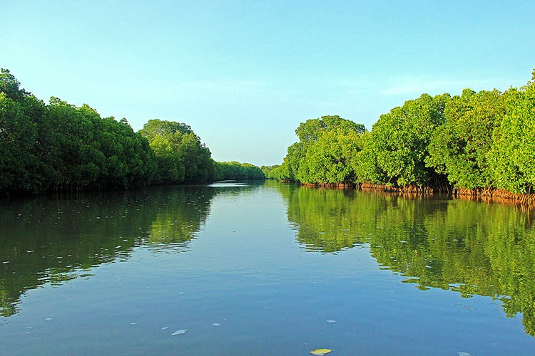
M0 195L264 178L252 164L215 162L183 123L149 120L134 132L126 119L54 97L46 105L19 87L2 69Z

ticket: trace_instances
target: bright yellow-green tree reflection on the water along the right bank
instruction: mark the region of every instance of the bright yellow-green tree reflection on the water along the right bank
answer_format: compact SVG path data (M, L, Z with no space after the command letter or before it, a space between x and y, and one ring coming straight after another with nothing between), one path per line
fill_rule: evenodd
M404 199L352 190L281 186L287 217L307 251L369 244L383 268L419 289L501 300L535 336L533 214L470 200Z

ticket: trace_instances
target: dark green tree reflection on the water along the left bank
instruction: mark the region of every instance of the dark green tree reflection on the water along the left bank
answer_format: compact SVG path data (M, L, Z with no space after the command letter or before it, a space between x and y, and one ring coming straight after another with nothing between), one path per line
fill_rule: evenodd
M26 290L91 276L92 267L126 261L137 246L157 253L188 251L215 194L253 187L159 187L0 204L0 315L16 313Z

